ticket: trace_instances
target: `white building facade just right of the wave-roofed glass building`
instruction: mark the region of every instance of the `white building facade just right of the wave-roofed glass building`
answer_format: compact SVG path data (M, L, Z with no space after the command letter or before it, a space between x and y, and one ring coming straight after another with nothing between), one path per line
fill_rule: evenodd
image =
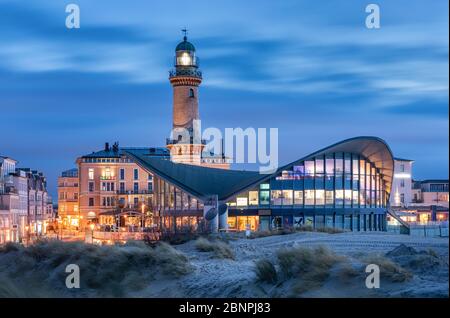
M394 159L394 180L389 203L393 207L408 207L412 202L412 160Z

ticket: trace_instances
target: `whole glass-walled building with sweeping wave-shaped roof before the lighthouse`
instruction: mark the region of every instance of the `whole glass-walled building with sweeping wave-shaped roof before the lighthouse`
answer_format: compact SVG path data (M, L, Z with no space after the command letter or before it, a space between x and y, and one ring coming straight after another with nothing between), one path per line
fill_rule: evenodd
M128 157L153 176L151 210L166 230L196 230L220 204L227 207L222 230L386 229L393 157L375 137L345 140L270 175L174 164L139 152Z

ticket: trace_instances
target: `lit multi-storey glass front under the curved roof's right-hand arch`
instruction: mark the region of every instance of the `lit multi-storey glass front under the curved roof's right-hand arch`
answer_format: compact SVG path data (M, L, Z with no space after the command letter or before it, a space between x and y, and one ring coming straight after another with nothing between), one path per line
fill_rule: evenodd
M263 222L264 228L260 226L264 230L286 225L384 230L388 195L379 169L370 160L334 152L297 162L227 204L236 216L270 209L272 217Z

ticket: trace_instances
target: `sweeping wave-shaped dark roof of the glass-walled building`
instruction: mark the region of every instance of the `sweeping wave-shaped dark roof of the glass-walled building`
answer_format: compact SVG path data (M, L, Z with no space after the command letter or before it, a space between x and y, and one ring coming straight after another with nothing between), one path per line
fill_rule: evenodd
M220 201L245 191L301 161L330 152L358 153L369 159L383 174L388 193L391 190L394 160L389 146L377 137L355 137L335 143L306 157L277 169L273 174L260 174L257 171L238 171L208 168L202 166L173 163L158 157L149 157L139 149L124 151L143 169L167 180L182 190L198 197L217 195ZM207 180L207 181L206 181Z

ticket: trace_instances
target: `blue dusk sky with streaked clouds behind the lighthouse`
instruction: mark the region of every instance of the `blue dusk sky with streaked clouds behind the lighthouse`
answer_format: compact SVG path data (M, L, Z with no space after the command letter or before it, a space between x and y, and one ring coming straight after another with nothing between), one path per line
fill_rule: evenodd
M76 3L81 28L65 28ZM277 127L280 163L375 135L448 178L448 2L0 0L0 154L56 178L102 147L164 146L187 27L203 126Z

